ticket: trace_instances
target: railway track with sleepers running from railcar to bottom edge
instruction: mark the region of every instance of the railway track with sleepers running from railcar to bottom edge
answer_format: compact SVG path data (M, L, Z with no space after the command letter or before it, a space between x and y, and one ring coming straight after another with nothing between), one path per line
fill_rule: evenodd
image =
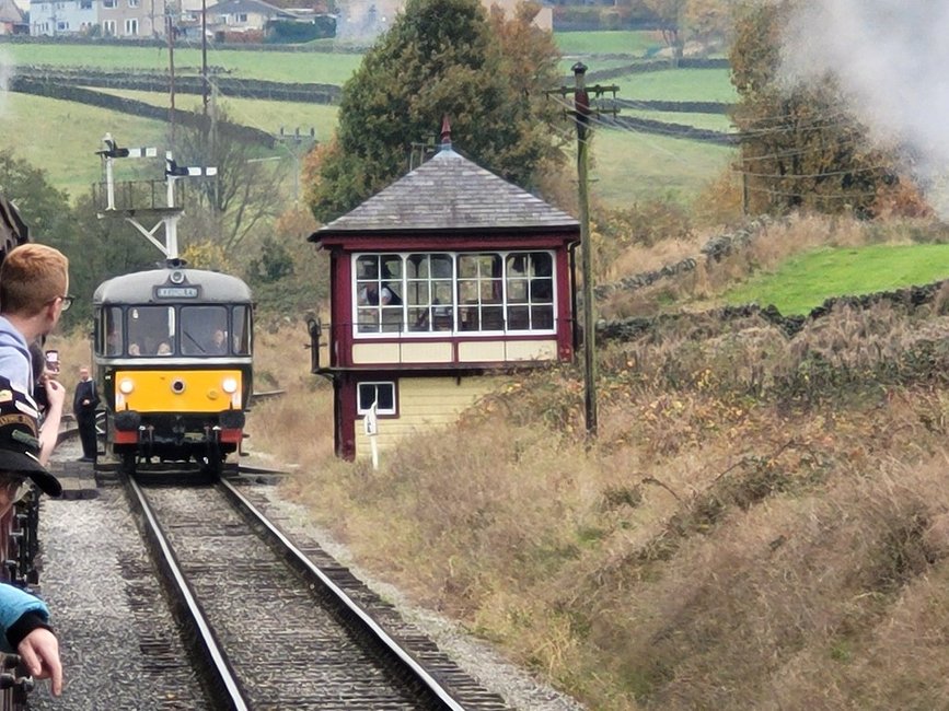
M212 708L508 708L246 487L124 482Z

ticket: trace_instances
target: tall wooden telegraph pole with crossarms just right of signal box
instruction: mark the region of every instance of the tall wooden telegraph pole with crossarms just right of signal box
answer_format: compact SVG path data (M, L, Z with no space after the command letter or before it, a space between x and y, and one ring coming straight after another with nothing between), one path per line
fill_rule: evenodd
M577 193L580 208L580 247L582 248L583 276L583 380L586 383L585 408L587 418L587 436L597 436L597 315L593 303L593 245L590 240L590 199L588 191L587 171L589 166L590 144L590 94L600 97L612 92L616 97L618 86L587 86L587 65L578 61L574 70L574 110L570 114L577 125ZM562 86L548 93L566 96L570 90ZM616 113L615 108L595 109L597 113Z

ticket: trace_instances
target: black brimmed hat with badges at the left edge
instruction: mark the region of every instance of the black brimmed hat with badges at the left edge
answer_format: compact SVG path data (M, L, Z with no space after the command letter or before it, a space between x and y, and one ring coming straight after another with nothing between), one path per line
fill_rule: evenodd
M43 493L58 497L62 485L39 464L36 403L0 376L0 474L27 477Z

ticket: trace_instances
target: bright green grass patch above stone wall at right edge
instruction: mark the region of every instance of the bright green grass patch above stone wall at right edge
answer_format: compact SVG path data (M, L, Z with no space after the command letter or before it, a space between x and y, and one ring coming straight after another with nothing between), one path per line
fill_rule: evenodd
M807 314L826 299L892 291L949 278L949 245L821 247L782 263L730 290L730 304L774 304L783 314Z

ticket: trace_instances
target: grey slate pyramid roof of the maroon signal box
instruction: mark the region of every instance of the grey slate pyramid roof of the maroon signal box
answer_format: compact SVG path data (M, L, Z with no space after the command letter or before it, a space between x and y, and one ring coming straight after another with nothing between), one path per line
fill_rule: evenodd
M578 232L566 212L455 153L449 144L312 235L311 242L356 234L419 232Z

